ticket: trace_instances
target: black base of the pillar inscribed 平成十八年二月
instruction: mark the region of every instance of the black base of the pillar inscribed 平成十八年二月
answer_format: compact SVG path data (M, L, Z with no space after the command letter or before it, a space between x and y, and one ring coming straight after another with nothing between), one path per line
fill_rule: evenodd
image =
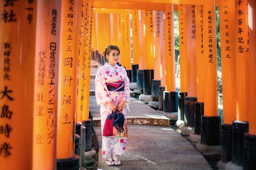
M201 143L204 145L220 145L220 116L202 116Z

